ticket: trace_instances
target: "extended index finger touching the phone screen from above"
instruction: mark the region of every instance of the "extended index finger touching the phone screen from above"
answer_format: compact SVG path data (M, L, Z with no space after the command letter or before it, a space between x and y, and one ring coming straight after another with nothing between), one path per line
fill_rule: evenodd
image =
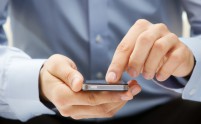
M112 62L106 74L106 81L109 83L117 82L126 68L131 52L133 51L137 37L147 29L151 23L146 20L138 20L124 36L118 45Z

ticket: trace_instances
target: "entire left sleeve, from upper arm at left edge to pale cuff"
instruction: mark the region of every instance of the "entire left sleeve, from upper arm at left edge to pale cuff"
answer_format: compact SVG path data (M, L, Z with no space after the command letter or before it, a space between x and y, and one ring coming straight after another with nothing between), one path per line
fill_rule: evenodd
M54 114L39 99L39 71L45 60L31 59L23 51L6 46L3 30L7 0L0 1L0 116L26 121Z

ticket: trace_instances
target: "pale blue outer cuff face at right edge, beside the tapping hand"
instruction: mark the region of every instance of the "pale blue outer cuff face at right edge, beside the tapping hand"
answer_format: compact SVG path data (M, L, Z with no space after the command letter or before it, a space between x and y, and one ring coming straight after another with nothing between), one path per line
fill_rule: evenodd
M201 102L201 37L181 38L181 41L192 50L196 60L193 73L183 90L182 98Z

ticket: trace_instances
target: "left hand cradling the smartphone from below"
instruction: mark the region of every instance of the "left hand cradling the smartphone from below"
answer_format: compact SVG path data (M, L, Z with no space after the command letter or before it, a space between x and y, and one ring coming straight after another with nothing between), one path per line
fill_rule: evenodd
M62 116L84 119L111 117L141 91L132 80L125 92L86 92L81 91L83 80L72 60L53 55L40 71L40 96L52 102Z

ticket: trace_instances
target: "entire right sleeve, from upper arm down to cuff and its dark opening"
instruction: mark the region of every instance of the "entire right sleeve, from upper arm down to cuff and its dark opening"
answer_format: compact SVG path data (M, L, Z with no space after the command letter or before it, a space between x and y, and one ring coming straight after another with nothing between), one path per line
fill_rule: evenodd
M195 57L196 64L188 81L185 82L178 78L176 81L168 82L167 80L157 84L166 89L181 93L183 99L201 102L201 1L181 0L181 2L191 25L191 37L180 38L180 40L190 48ZM181 87L173 88L163 85L163 83L174 85L174 83L178 82L181 84Z

